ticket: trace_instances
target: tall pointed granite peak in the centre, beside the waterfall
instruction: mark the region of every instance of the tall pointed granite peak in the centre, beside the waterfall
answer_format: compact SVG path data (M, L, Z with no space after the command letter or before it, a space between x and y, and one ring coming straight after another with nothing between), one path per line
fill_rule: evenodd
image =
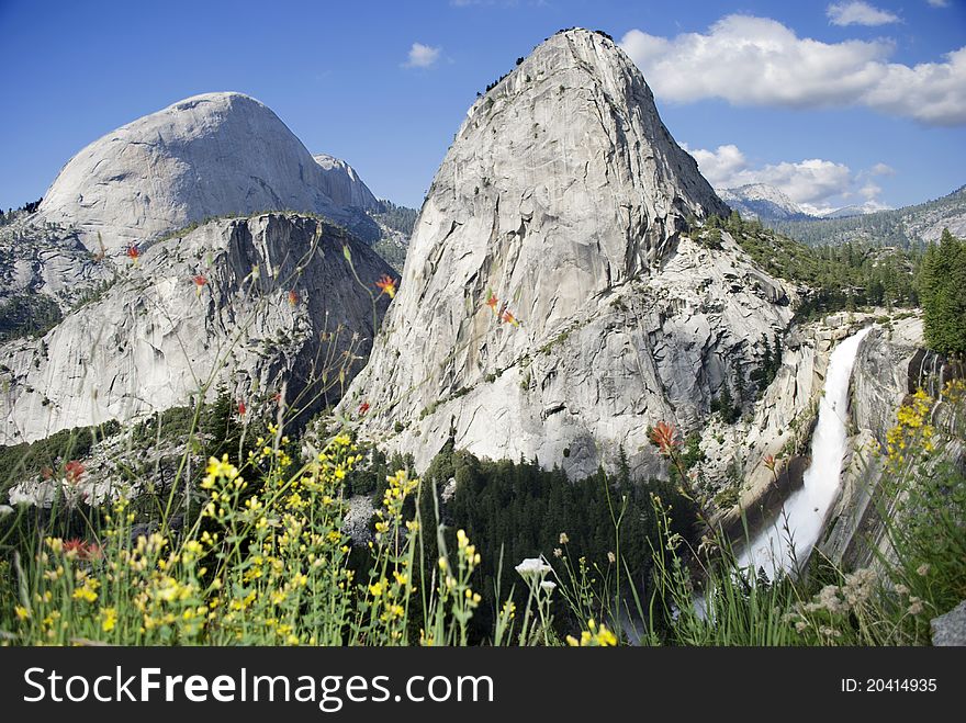
M350 389L367 432L417 466L452 430L573 474L620 445L658 471L648 426L699 427L790 320L782 283L698 229L726 213L611 41L549 38L469 110L436 176Z

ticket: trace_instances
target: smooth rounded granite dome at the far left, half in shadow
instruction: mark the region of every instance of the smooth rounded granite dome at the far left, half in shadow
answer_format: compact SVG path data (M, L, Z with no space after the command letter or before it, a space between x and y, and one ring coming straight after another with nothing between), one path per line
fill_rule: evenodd
M100 234L109 252L212 216L299 211L342 223L353 214L328 195L330 176L262 103L206 93L80 150L38 217L74 227L93 251Z

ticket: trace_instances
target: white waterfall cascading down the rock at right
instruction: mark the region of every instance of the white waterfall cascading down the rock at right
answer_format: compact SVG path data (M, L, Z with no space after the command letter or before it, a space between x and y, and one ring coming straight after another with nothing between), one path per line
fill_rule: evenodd
M795 571L808 560L839 490L845 456L849 381L858 344L868 331L866 328L852 335L832 351L811 440L811 465L805 472L804 484L785 500L775 522L760 531L738 556L739 567L762 568L774 579L779 572Z

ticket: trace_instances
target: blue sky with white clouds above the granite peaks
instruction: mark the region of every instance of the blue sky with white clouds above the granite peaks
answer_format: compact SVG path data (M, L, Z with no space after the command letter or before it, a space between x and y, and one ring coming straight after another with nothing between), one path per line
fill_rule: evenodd
M966 183L963 0L0 0L0 206L111 129L217 90L418 206L476 91L573 25L624 44L717 185L823 210Z

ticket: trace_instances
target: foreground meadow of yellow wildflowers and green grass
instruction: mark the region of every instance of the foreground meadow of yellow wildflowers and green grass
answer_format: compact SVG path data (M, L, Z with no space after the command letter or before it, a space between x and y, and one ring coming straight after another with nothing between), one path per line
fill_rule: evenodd
M68 462L52 508L4 510L0 631L14 644L924 644L930 618L966 597L966 477L944 461L946 440L966 431L964 409L963 382L940 404L920 393L900 409L876 493L886 507L874 565L844 572L815 557L797 579L775 581L735 571L700 515L677 513L685 489L604 475L568 483L568 502L549 477L503 466L501 478L515 468L530 489L515 505L509 482L488 488L485 465L451 454L428 476L453 473L454 501L445 508L438 484L391 474L371 541L353 549L347 486L372 455L345 433L300 450L268 425L240 461L210 459L199 505L179 506L172 486L164 507L177 519L149 528L124 495L86 505L75 494L82 465ZM653 440L681 465L673 428ZM494 509L549 509L541 484L559 518L494 524ZM557 530L568 505L593 508L594 486L606 519ZM520 544L516 531L530 536Z

